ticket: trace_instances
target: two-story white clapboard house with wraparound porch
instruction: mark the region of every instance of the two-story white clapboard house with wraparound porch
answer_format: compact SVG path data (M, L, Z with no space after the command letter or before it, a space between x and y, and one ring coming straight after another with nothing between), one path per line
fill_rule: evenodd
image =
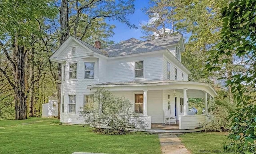
M84 124L84 104L98 87L130 100L135 112L152 123L164 123L164 110L176 116L178 129L195 129L206 120L207 100L216 96L206 83L189 82L190 71L181 63L182 35L140 41L135 38L101 49L68 37L50 60L62 63L60 121ZM188 98L204 98L205 114L188 115Z

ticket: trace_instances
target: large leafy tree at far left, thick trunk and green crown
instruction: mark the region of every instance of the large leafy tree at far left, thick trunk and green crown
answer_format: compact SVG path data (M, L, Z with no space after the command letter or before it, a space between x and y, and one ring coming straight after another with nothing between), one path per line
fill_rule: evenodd
M0 49L8 62L0 72L14 90L16 120L27 119L25 57L34 43L31 34L40 35L36 19L52 18L54 7L45 0L4 0L0 13Z

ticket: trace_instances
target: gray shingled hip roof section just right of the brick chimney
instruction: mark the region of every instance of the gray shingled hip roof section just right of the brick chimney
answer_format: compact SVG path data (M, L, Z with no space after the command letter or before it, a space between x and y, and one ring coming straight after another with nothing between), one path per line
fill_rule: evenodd
M106 47L102 50L106 51L109 57L116 57L138 53L148 53L152 51L161 51L165 49L166 48L159 47L145 41L131 38L115 45L111 45L110 47Z

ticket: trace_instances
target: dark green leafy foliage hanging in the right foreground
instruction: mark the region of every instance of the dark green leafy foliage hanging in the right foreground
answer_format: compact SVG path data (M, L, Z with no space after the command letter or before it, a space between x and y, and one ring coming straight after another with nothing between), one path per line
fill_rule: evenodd
M234 0L222 9L221 41L211 51L208 70L220 70L230 63L233 53L240 57L246 72L226 78L227 86L237 101L230 114L232 129L225 144L226 150L239 153L256 152L256 20L254 0Z

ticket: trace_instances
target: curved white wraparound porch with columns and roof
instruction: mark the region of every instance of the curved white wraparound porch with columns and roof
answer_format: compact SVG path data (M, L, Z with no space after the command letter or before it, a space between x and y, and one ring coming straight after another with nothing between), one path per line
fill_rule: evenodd
M201 131L207 122L208 100L216 96L214 89L205 83L170 80L112 82L87 86L90 90L103 87L114 96L126 97L140 117L147 121L148 132L194 132ZM205 113L190 115L188 98L204 98ZM164 110L176 117L176 124L165 123Z

